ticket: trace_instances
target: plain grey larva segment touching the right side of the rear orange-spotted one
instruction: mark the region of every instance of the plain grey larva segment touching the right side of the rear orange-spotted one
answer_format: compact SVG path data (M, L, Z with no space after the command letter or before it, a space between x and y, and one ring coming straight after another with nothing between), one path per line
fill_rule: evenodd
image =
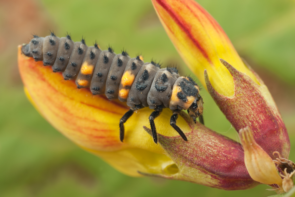
M116 53L113 50L105 50L100 53L91 79L90 90L94 95L104 94L106 79Z

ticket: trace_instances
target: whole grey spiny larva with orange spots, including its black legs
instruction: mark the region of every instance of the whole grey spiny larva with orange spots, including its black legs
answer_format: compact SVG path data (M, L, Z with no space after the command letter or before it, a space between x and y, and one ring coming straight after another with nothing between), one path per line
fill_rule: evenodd
M78 88L90 88L92 94L105 94L109 100L127 102L130 110L120 119L120 140L124 139L124 123L144 107L154 109L149 116L154 142L158 137L154 120L163 108L170 108L173 115L170 125L187 141L186 135L176 125L178 114L187 110L196 123L202 124L203 99L199 86L189 76L179 76L174 67L160 69L160 65L143 62L140 55L130 58L126 51L116 54L111 47L101 51L97 43L88 47L73 42L69 34L58 38L53 32L45 38L33 35L29 44L23 45L22 53L52 66L53 72L63 72L65 80L76 80Z

